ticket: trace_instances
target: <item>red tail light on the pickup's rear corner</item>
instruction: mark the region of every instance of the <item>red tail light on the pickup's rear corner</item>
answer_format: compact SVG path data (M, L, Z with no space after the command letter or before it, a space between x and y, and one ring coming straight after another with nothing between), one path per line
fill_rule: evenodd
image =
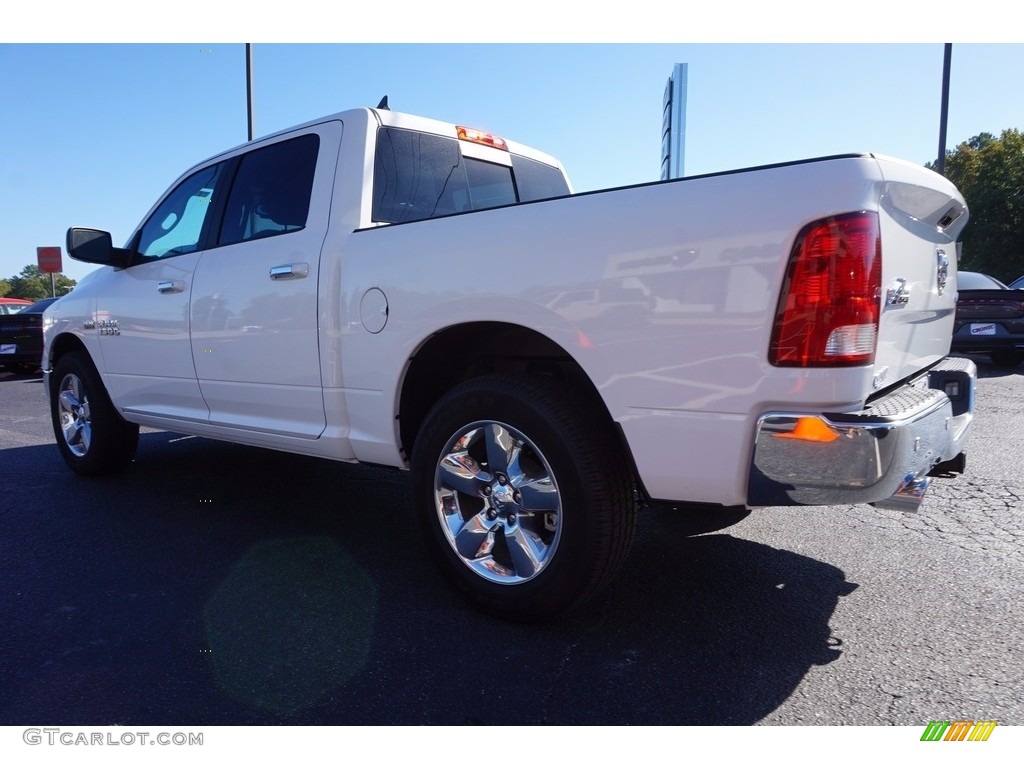
M808 224L790 256L769 361L798 368L873 362L881 297L878 214Z

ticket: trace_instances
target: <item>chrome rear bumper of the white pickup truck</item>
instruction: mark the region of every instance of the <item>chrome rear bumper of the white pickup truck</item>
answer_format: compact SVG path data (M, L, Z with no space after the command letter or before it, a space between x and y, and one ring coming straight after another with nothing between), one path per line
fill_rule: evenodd
M976 381L974 362L946 357L857 413L764 414L748 504L916 507L936 465L962 466Z

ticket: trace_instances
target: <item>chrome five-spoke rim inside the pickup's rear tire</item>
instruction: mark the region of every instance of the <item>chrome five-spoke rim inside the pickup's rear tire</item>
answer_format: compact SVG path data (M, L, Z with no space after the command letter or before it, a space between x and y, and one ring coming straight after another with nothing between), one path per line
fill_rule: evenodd
M459 559L497 584L537 577L558 549L561 496L528 437L478 421L447 440L434 473L434 507Z

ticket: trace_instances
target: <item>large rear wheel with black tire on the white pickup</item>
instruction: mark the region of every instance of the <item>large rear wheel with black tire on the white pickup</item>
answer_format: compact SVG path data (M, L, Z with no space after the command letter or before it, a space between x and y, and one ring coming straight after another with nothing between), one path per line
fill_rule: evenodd
M487 612L550 617L626 559L632 476L599 407L548 379L487 376L427 416L413 454L420 523L441 570Z

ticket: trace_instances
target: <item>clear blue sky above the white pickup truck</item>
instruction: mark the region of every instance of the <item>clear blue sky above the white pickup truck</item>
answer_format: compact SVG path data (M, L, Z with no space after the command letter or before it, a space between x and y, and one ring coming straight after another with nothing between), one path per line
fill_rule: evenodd
M657 178L665 83L686 62L688 175L860 151L924 164L938 150L942 52L941 42L259 43L255 126L259 136L388 94L394 110L549 152L578 190L631 184ZM1024 129L1022 73L1024 45L954 43L950 148ZM245 46L2 42L0 104L6 278L35 263L37 246L62 246L71 225L122 243L183 170L244 142ZM70 276L91 269L66 255Z

